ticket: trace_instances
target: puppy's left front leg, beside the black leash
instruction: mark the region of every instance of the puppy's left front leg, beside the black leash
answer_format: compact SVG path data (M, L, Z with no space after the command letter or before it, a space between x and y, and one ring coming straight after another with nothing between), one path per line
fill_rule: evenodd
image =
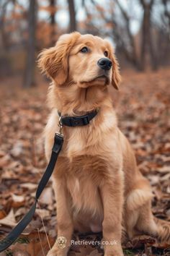
M48 256L66 256L71 244L73 221L65 183L64 179L55 179L53 182L57 206L58 237L53 248L48 252Z

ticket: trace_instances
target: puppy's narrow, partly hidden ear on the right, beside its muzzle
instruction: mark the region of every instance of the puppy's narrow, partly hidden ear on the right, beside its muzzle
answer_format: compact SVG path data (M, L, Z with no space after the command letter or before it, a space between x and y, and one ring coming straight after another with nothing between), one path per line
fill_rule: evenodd
M119 90L119 85L121 82L121 76L119 71L119 64L115 57L115 54L112 54L112 85L116 90Z

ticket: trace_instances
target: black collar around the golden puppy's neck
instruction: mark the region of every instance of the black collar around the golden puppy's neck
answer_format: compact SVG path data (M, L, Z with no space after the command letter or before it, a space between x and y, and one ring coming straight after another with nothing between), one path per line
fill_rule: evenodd
M93 119L98 112L99 109L96 109L84 116L61 116L61 112L58 112L58 115L60 116L60 124L62 126L66 125L66 127L82 127L89 124L91 119Z

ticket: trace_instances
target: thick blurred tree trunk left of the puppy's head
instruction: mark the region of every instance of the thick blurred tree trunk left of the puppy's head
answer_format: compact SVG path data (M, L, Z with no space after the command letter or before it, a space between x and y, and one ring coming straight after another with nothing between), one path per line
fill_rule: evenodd
M24 72L24 88L30 88L35 85L35 30L36 30L36 10L37 1L30 0L28 11L28 41L27 41L27 59Z

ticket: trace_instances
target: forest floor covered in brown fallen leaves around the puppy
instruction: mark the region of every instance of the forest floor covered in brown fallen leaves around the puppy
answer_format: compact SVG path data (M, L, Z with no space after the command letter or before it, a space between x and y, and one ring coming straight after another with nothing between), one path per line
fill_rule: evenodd
M48 82L23 90L18 78L0 85L0 237L5 236L34 202L37 183L46 166L42 130L49 109ZM119 126L130 140L140 171L151 182L155 216L170 221L170 72L122 72L122 84L111 92ZM42 226L48 232L48 239ZM24 234L0 255L46 255L55 241L55 200L45 188L35 217ZM99 241L101 234L74 234L74 239ZM170 255L168 244L140 236L124 246L125 255ZM103 255L99 246L74 245L69 256Z

